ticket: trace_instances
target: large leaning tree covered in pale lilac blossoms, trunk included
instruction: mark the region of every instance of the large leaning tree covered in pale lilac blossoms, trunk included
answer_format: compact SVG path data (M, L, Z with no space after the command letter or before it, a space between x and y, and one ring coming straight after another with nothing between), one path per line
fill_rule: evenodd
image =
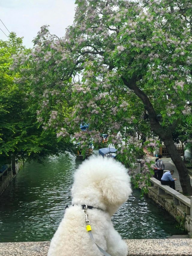
M76 4L64 38L43 26L29 60L20 56L15 62L22 64L18 82L32 84L40 95L39 121L45 129L53 125L58 137L89 123L87 136L100 140L100 132L110 133L109 142L121 145L126 162L126 155L140 154L134 128L145 114L176 165L183 193L192 194L172 138L178 125L192 120L190 0Z

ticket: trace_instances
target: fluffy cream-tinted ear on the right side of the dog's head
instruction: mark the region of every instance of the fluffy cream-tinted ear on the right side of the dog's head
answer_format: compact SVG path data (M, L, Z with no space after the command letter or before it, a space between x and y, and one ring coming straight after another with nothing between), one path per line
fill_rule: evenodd
M131 194L130 178L127 173L121 173L119 176L111 173L100 182L100 188L105 200L113 205L121 205Z

